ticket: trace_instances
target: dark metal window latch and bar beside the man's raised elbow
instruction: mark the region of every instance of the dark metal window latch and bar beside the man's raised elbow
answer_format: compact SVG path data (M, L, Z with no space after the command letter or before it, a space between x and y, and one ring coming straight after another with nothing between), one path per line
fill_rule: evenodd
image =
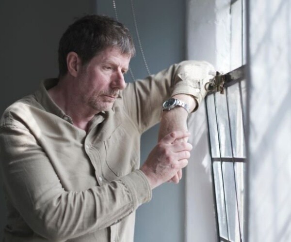
M242 65L226 74L216 72L216 76L207 82L204 88L208 93L219 91L221 94L224 94L226 87L229 87L242 79L245 79L245 65Z

